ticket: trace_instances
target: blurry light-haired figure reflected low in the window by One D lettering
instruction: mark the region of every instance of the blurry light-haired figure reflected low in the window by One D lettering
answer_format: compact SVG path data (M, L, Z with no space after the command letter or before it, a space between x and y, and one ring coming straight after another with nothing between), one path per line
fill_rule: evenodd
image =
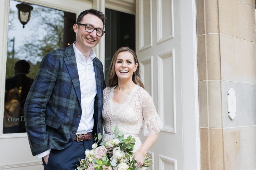
M8 91L4 108L3 133L18 133L19 130L19 101L18 89L15 87Z

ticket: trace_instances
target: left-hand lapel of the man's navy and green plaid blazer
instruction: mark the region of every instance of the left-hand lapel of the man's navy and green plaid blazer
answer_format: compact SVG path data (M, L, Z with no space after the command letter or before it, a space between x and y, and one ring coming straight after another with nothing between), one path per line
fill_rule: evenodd
M80 106L81 106L81 88L80 88L80 81L79 81L79 75L78 75L78 69L77 69L73 45L70 45L69 47L66 48L66 55L67 55L67 57L64 58L64 61L67 66L67 70L71 77L77 98L78 98Z

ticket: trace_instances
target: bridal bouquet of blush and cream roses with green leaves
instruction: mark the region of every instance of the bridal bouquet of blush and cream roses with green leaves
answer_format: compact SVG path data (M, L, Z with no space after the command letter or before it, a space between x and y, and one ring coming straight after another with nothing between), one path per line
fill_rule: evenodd
M78 159L78 170L138 170L132 152L135 139L131 135L124 138L117 126L112 131L111 141L101 140L101 133L94 137L97 142L92 145L92 150L85 151L85 159ZM151 160L146 156L142 166L151 166Z

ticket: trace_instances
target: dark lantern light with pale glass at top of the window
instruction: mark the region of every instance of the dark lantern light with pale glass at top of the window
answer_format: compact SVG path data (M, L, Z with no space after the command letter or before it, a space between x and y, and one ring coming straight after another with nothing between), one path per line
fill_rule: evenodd
M33 7L25 3L17 4L16 7L18 8L18 18L24 28L24 25L29 22L30 14L33 10Z

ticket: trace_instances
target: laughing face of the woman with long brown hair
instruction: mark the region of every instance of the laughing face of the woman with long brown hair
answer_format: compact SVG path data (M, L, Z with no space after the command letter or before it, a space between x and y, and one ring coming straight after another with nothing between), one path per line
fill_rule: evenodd
M118 80L131 80L133 72L136 71L138 64L134 62L134 57L130 52L120 52L115 63L115 72Z

